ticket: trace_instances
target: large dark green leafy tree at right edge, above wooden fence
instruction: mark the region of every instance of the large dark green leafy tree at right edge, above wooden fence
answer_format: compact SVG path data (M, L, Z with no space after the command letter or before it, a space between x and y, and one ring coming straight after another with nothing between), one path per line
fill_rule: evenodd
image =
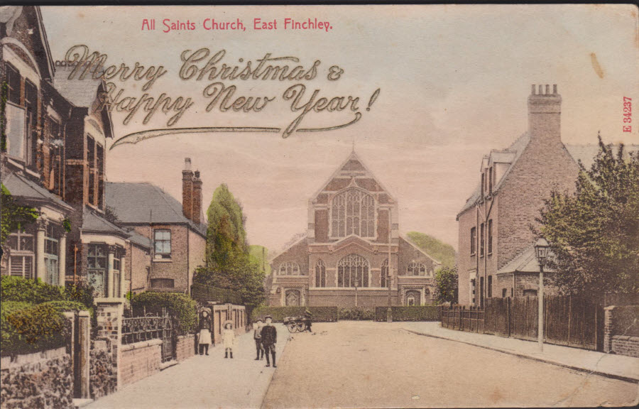
M613 153L599 137L590 170L579 162L577 190L553 191L537 218L564 294L639 292L639 153Z

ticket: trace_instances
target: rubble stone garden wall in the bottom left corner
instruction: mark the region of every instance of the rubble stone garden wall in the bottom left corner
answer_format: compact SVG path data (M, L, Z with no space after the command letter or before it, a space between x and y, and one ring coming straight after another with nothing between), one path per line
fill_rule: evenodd
M74 408L71 356L65 348L3 356L0 361L0 407Z

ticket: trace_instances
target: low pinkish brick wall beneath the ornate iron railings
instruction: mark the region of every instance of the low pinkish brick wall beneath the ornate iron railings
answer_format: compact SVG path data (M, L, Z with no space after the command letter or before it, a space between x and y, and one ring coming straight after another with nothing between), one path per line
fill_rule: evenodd
M162 363L161 345L160 339L122 345L119 351L121 376L119 387L158 373Z

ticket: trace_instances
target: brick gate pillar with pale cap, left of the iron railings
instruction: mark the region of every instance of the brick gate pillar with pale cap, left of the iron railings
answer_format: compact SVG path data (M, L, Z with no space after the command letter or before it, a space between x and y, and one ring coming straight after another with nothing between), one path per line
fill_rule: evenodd
M97 336L111 339L113 354L113 371L116 373L117 386L121 386L119 350L122 342L122 317L124 317L124 300L121 298L96 298Z

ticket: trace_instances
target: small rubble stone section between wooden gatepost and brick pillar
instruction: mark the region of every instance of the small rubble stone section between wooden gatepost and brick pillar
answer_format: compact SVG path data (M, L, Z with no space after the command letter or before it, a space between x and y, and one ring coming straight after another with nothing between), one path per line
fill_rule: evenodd
M91 398L102 398L102 396L114 393L118 380L111 353L111 339L92 341L90 356L89 390Z

